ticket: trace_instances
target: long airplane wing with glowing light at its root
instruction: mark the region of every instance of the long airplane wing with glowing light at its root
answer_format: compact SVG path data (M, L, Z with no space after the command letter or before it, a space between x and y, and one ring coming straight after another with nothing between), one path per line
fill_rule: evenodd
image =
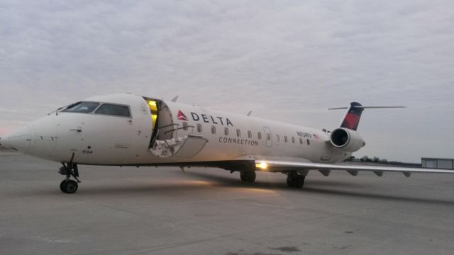
M382 176L383 172L401 172L406 177L411 173L432 173L432 174L454 174L454 170L427 169L394 166L371 166L357 164L319 164L311 162L286 162L273 160L256 160L255 167L261 171L299 171L307 173L309 170L318 170L324 176L328 176L331 170L348 171L349 174L356 176L359 171L372 171L377 176Z

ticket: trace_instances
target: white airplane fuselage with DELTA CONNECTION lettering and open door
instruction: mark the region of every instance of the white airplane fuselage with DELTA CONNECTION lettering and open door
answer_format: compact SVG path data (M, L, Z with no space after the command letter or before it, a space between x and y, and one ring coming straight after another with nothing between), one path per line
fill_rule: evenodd
M155 120L148 99L158 105ZM259 119L133 94L96 96L86 101L128 106L131 115L56 111L19 130L16 137L26 137L27 142L18 149L56 162L99 165L261 156L333 163L351 154L333 147L328 132L279 123L272 116Z

